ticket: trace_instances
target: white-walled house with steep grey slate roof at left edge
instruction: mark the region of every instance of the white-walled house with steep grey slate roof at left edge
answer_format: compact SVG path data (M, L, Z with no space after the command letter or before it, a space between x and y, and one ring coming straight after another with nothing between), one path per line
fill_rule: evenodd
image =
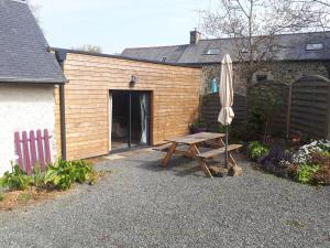
M47 129L56 157L55 88L65 76L25 1L0 1L0 175L15 162L14 132Z

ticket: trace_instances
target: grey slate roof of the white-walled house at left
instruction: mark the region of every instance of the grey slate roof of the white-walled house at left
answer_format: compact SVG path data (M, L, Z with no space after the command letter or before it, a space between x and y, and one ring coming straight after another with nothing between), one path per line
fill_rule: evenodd
M65 83L25 1L0 0L0 83Z

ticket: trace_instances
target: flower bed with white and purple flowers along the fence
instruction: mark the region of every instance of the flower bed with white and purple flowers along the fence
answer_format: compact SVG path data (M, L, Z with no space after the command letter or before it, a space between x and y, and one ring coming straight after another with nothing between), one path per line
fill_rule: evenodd
M250 142L249 158L257 169L304 184L330 185L330 141L264 145Z

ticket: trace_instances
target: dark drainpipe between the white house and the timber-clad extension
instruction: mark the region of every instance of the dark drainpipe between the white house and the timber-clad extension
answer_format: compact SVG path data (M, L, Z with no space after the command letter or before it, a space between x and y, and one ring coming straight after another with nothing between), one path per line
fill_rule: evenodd
M66 51L56 50L56 58L64 72L64 62L66 60ZM66 160L66 125L65 125L65 88L64 84L59 85L59 119L61 119L61 151L62 159Z

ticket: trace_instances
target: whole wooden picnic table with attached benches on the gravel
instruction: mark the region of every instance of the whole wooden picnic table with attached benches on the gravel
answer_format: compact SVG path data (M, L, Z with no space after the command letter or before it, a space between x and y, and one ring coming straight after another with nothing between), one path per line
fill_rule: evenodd
M222 140L222 138L224 137L226 137L224 133L200 132L200 133L184 136L179 138L167 139L166 141L168 141L168 143L161 145L155 150L167 151L166 155L162 160L163 168L167 166L168 161L170 160L173 154L182 154L184 157L196 159L199 162L206 176L212 177L212 174L206 161L208 159L212 159L213 157L226 152L224 142ZM199 151L199 148L202 147L205 142L210 143L211 147L216 149L201 153ZM179 149L183 147L183 144L187 148L186 150ZM240 147L241 147L240 144L231 144L229 145L229 151L235 150ZM231 154L229 154L229 161L232 165L237 164Z

